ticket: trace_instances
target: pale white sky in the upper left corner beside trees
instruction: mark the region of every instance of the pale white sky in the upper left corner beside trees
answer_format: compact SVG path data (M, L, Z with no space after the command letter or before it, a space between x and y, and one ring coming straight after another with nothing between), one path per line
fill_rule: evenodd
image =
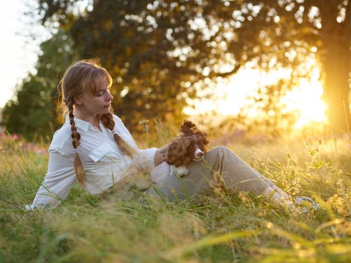
M16 83L20 83L34 69L41 42L39 39L48 36L48 32L39 24L29 25L28 18L23 15L28 10L26 4L32 3L34 0L11 0L0 8L0 108L13 96ZM32 33L39 39L30 39L27 35Z

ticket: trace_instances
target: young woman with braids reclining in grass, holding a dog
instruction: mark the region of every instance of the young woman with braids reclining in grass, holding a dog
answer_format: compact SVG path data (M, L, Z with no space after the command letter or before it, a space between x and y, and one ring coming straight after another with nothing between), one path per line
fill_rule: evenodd
M111 85L110 74L91 60L81 60L67 69L59 88L68 114L53 135L48 172L27 209L55 208L76 181L89 193L102 194L125 177L150 173L164 162L167 146L138 149L121 119L112 114ZM194 161L187 169L190 174L185 177L165 175L145 191L146 196L174 201L192 198L211 191L213 175L220 174L229 191L254 191L294 208L288 194L226 147L211 149L203 161Z

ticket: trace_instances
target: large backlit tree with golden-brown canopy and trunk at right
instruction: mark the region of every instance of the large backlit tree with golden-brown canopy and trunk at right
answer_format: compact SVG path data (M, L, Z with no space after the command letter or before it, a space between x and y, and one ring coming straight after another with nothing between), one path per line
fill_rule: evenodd
M65 23L72 2L39 0L43 21ZM324 72L330 126L343 131L350 123L350 12L347 0L106 0L93 1L70 32L81 55L98 55L119 76L126 95L114 105L126 116L135 104L143 114L154 110L150 116L182 107L186 93L196 95L195 83L235 74L247 62L291 69L290 85L277 86L289 89L308 76L310 56Z

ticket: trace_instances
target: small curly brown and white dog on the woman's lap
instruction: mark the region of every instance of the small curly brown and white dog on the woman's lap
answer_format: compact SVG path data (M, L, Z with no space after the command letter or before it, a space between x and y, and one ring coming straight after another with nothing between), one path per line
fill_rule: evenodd
M180 177L187 175L189 171L185 166L191 161L201 160L206 154L208 142L207 133L199 130L192 121L184 121L179 135L169 144L166 162L152 171L152 180L160 182L169 173L176 173Z

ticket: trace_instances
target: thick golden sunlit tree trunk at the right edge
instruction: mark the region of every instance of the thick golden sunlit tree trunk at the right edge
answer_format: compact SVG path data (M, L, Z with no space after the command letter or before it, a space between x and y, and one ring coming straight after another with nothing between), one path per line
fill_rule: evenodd
M339 3L338 3L339 2ZM329 105L329 121L335 130L350 125L350 1L306 1L308 7L317 6L322 28L317 34L321 43L320 61L325 72L324 94Z

